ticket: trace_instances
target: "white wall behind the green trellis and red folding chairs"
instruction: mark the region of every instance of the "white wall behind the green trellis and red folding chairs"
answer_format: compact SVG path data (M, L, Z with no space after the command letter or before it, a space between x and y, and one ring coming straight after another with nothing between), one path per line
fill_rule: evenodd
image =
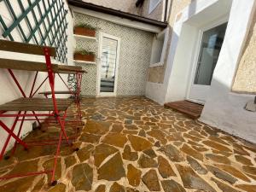
M65 2L65 9L68 9L67 2L66 1L64 1L64 2ZM17 3L16 4L12 3L12 4L14 6L14 9L15 9L17 15L19 15L21 12L20 12L20 9L19 9ZM5 5L4 5L3 1L0 3L0 9L1 9L0 15L3 16L4 20L6 20L6 21L9 20L9 23L8 23L8 25L9 25L12 22L12 18L11 18L11 15L9 15L9 11L7 9L5 9ZM36 13L36 14L38 14L38 13ZM29 18L29 19L32 20L32 18ZM67 22L68 22L67 59L68 59L68 64L73 65L73 19L72 19L70 13L68 13L68 15L67 15ZM26 28L26 26L24 26L23 24L21 24L21 26L23 26L23 29L25 30L26 34L28 34L29 31ZM2 34L3 34L3 29L0 27L0 37L2 37ZM18 31L15 31L13 36L16 41L21 41L20 33ZM30 42L30 43L33 44L33 42ZM0 51L0 57L1 58L9 58L9 59L19 58L19 60L25 60L25 61L26 60L28 60L28 61L44 61L44 56L23 55L23 54L15 54L15 53L10 54L10 53L4 52L4 51ZM57 62L57 61L54 61L54 62ZM30 92L30 89L32 86L32 80L34 78L35 73L24 72L24 71L14 71L14 73L16 75L16 78L19 80L20 85L25 89L26 95L29 95L29 92ZM37 87L45 77L46 77L45 73L38 73L38 81L37 81L37 84L35 85L35 87ZM67 75L64 75L63 79L67 79ZM17 89L15 82L13 81L13 79L10 78L10 75L6 69L0 69L0 87L1 87L0 104L3 104L5 102L10 102L10 101L12 101L16 98L19 98L21 96L20 90ZM59 79L56 79L55 90L66 90L66 89L67 88L65 87L65 85L63 83L61 83L61 81ZM41 91L44 91L44 90L49 90L48 84L45 84L42 87ZM8 119L2 118L1 120L3 120L3 122L9 126L12 125L12 123L13 123L12 118L8 118ZM18 127L19 127L19 123L16 125L15 132L17 132ZM21 135L24 136L29 131L32 131L32 122L26 122L23 125L23 130L21 132ZM6 133L6 131L3 131L2 127L0 127L0 137L1 137L1 140L0 140L0 149L1 149L3 147L3 143L5 141L4 138L7 137L7 133ZM11 148L13 143L14 143L14 139L11 140L8 148Z

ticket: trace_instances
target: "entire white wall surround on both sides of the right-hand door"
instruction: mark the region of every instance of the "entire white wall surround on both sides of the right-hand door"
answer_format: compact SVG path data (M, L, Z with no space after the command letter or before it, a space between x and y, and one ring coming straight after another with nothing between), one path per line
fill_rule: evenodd
M184 41L193 42L194 40L184 36L186 31L189 32L189 28L186 29L184 26L197 27L199 30L201 26L211 21L209 18L217 20L230 12L223 48L213 73L211 90L200 120L256 143L255 113L244 109L246 103L253 100L253 96L230 92L255 9L254 2L252 0L201 0L194 1L183 9L181 19L173 27L164 83L148 82L146 96L160 104L185 99L188 91L186 87L188 88L190 84L189 75L191 77L193 74L191 72L193 62L188 59L191 53L193 55L193 49L189 44L186 49ZM193 36L195 31L191 32Z

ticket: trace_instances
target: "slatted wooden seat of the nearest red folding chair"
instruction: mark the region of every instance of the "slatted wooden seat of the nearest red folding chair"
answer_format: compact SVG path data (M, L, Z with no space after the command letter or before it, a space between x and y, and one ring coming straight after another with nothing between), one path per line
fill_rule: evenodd
M59 111L66 111L73 102L72 99L56 99ZM0 111L55 111L52 99L19 98L0 105Z

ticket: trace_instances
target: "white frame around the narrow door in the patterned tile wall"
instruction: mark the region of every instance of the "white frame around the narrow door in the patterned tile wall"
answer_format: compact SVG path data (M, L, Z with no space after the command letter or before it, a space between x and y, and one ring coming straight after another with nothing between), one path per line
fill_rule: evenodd
M115 64L115 77L114 77L114 90L113 92L101 92L101 69L102 69L102 39L112 38L117 40L117 57ZM96 96L116 96L117 94L117 82L118 82L118 73L119 73L119 55L120 55L120 43L121 38L110 35L105 32L100 32L99 34L99 48L98 48L98 57L97 57L97 85L96 85Z

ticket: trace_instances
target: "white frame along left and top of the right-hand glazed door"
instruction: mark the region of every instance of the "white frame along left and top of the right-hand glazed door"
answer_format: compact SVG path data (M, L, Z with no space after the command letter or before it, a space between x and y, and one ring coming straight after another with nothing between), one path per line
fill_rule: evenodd
M186 100L188 100L190 102L199 103L201 105L205 104L205 102L201 102L201 101L189 98L192 84L194 84L194 81L195 81L195 73L196 73L196 68L197 68L197 61L200 56L202 36L203 36L203 33L206 32L207 30L212 29L215 26L220 26L228 21L229 21L229 15L224 15L223 17L219 18L218 20L211 21L211 23L208 23L207 25L201 26L201 28L199 28L197 40L195 42L194 56L192 56L192 59L191 59L191 64L192 64L191 65L191 74L190 74L189 84L188 84L187 93L186 93ZM200 85L200 86L210 87L211 85Z

